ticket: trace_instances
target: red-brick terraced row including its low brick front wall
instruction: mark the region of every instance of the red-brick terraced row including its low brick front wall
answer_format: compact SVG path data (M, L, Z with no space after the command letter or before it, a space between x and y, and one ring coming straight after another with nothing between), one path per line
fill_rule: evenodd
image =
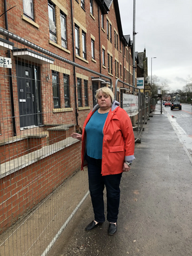
M133 84L136 62L117 0L1 0L0 15L1 206L12 205L3 232L79 168L71 132L81 132L100 86ZM118 83L116 100L122 92L132 89Z

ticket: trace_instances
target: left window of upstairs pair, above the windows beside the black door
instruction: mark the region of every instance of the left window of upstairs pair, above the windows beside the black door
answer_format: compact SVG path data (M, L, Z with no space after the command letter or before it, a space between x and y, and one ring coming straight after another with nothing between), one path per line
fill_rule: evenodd
M49 12L49 37L53 42L57 41L56 38L56 22L55 22L55 10L54 4L48 2L48 12Z

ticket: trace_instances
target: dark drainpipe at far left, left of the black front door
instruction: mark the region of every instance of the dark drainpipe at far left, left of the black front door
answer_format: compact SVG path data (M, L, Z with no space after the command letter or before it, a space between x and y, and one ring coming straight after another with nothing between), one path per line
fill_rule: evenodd
M5 22L5 29L8 30L6 0L4 0L4 22ZM6 40L9 41L9 38L7 37ZM10 50L8 50L7 56L8 58L11 58ZM11 106L12 106L13 136L17 136L16 125L15 125L15 108L14 108L14 100L13 100L12 68L8 68L8 73L9 73L9 84L10 84L10 98L11 98Z

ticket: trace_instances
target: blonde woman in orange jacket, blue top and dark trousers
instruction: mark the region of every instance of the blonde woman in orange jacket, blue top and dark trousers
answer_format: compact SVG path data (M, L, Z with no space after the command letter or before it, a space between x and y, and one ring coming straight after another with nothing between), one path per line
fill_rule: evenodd
M134 160L134 133L131 119L114 100L108 87L97 90L97 105L88 114L83 134L72 138L82 141L81 170L88 165L88 180L95 220L85 229L92 230L105 221L103 191L107 191L108 234L117 230L122 172L129 172Z

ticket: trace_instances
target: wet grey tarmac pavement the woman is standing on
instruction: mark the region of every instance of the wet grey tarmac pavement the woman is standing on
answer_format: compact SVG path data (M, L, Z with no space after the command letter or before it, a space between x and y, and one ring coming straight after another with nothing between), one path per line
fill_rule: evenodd
M136 143L135 161L123 173L118 230L108 236L108 221L90 232L90 196L49 255L192 255L192 157L160 106Z

